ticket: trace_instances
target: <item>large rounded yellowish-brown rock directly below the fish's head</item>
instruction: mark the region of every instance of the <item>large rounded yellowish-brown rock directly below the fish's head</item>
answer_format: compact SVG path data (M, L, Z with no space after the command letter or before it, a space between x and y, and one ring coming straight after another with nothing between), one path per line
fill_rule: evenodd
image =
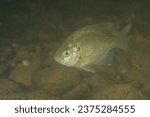
M80 80L80 74L76 69L54 65L41 70L34 76L32 83L36 89L43 89L49 94L62 95L76 87Z

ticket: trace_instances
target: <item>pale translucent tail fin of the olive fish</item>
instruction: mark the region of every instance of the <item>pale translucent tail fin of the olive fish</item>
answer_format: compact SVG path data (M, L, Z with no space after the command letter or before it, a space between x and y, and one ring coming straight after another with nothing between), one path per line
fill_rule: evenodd
M118 37L118 47L122 48L123 50L128 49L128 43L127 43L127 35L131 28L131 24L128 24L124 29L121 30Z

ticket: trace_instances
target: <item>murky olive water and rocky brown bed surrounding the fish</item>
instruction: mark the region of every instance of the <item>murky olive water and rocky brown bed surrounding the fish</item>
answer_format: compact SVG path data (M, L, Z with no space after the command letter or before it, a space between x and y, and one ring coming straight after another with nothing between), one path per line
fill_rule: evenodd
M132 24L129 49L96 73L53 59L63 40L102 22ZM1 0L0 99L150 99L149 0Z

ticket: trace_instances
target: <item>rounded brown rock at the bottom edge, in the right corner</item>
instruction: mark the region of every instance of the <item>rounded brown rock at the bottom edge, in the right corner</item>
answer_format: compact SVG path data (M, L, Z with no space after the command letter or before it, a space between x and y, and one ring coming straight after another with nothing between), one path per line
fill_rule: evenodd
M135 100L145 99L142 92L130 84L116 84L97 94L98 99L105 100Z

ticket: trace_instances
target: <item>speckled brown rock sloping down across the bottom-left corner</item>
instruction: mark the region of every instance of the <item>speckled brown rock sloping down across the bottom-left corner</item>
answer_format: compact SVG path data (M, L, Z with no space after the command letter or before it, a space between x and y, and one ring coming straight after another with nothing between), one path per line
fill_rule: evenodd
M1 100L37 100L37 99L60 99L58 96L47 95L42 90L24 90L21 85L0 78L0 99Z

